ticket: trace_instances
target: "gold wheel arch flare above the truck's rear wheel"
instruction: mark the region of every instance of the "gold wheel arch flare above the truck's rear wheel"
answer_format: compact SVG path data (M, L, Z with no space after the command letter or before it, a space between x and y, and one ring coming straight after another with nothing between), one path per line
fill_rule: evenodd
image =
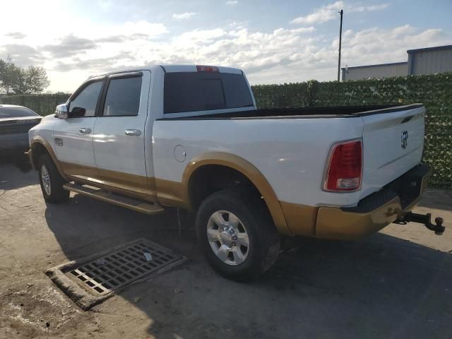
M209 166L218 166L232 169L241 174L244 178L249 180L251 184L257 189L259 194L263 197L268 211L270 212L273 222L277 229L283 234L291 234L287 227L283 209L280 206L278 197L273 191L273 188L268 183L266 177L253 165L251 162L242 157L224 152L210 152L203 153L194 157L189 165L186 166L182 176L182 186L184 187L182 199L186 201L189 209L196 208L196 201L194 201L194 184L193 180L197 177L196 173Z

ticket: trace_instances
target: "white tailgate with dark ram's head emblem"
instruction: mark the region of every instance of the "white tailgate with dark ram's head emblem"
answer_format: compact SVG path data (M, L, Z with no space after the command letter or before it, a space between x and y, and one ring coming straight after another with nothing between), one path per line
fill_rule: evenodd
M424 106L363 114L362 193L378 191L418 165L424 146Z

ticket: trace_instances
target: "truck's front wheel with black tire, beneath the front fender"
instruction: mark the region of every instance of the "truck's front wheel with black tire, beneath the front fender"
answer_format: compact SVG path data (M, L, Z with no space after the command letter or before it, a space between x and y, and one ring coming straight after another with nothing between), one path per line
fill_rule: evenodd
M59 174L52 158L43 154L37 160L42 196L49 203L64 203L69 200L70 192L63 188L64 178Z

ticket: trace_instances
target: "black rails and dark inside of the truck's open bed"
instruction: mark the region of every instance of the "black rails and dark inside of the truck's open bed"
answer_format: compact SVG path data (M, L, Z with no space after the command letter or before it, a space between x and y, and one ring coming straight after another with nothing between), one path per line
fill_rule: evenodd
M403 110L415 109L419 107L422 107L422 104L270 108L270 109L250 109L248 111L222 112L215 114L203 114L192 117L162 118L159 120L364 117L373 114L400 112Z

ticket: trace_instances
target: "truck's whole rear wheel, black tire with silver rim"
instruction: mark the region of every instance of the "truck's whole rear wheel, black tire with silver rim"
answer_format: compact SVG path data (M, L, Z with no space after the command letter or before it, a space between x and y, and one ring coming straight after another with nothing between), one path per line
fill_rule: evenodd
M198 209L196 232L210 266L230 280L258 278L279 254L270 213L251 189L224 189L208 196Z

